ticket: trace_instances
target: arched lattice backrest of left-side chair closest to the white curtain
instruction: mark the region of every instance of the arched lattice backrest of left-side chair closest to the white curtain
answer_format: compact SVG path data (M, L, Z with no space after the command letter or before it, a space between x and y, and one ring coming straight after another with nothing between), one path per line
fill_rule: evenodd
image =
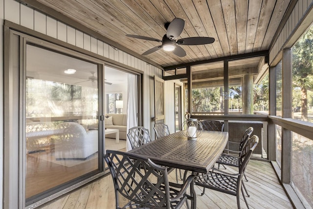
M149 130L142 126L130 128L127 137L133 149L151 141Z

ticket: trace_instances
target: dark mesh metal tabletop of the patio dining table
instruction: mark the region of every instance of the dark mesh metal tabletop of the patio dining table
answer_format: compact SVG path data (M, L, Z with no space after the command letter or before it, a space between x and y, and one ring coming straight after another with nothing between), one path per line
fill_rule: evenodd
M222 154L227 140L227 132L202 131L200 137L191 140L186 131L180 131L129 152L161 165L206 173Z

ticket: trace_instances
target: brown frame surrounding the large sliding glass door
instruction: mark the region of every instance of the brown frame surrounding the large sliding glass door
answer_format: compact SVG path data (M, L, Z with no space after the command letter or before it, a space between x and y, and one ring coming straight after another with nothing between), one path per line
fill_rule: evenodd
M11 50L10 41L15 42L17 51ZM25 44L33 43L44 48L72 55L78 59L89 60L98 66L99 90L99 117L104 115L104 67L115 66L118 69L131 72L137 76L138 82L138 125L142 124L142 71L126 68L113 60L89 52L77 46L72 46L60 40L40 34L21 25L4 21L4 107L3 107L3 137L4 137L4 164L3 164L3 208L23 209L40 206L58 196L63 195L79 186L103 176L105 165L101 156L104 153L104 122L99 120L99 166L95 172L90 172L77 178L71 184L62 185L58 191L50 191L43 197L36 197L26 203L25 201ZM12 53L15 53L15 62L12 62ZM110 62L109 62L110 61ZM112 62L111 62L112 61Z

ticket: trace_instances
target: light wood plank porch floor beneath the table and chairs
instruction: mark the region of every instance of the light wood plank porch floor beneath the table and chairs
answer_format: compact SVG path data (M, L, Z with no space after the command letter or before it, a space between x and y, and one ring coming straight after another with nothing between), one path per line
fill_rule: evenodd
M234 171L227 167L227 171ZM250 197L247 201L251 209L293 209L291 202L280 185L277 176L268 162L250 160L246 170L248 182L245 182ZM171 172L170 181L175 181L175 172ZM195 186L198 209L236 209L236 197L222 192ZM123 200L122 200L123 201ZM241 208L246 204L241 196ZM114 209L115 195L111 175L98 179L68 193L57 200L40 207L42 209ZM184 209L186 207L183 207Z

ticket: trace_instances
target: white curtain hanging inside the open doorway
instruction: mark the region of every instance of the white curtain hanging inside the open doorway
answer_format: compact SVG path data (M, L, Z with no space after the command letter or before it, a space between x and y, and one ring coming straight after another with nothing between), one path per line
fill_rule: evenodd
M137 126L137 76L128 74L127 88L127 133L130 128ZM127 137L126 151L132 149L131 142Z

